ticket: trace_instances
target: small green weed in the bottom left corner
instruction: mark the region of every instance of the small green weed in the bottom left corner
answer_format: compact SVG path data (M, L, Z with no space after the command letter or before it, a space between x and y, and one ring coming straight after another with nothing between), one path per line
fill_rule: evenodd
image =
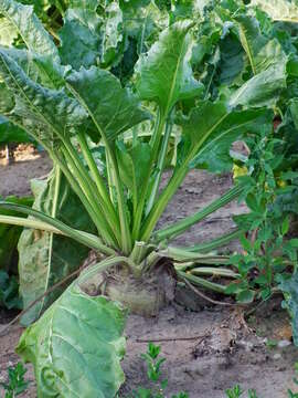
M8 383L0 383L0 386L6 390L4 398L14 398L26 390L29 381L24 380L25 373L26 369L22 363L8 368Z

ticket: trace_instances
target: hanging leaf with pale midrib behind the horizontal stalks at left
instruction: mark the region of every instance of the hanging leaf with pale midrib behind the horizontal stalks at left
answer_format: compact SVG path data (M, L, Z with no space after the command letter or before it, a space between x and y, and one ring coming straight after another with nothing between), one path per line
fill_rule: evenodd
M35 197L34 209L75 229L94 232L86 210L58 170L47 180L33 180L32 190ZM77 270L88 254L88 248L70 238L32 229L22 232L18 249L20 292L25 307ZM35 321L64 289L65 285L41 300L22 317L22 323L29 325Z

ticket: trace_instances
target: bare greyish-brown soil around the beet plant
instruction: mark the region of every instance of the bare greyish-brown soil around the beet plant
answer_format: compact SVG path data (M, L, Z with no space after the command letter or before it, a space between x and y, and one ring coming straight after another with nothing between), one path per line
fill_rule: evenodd
M25 150L24 150L25 149ZM1 153L0 153L1 156ZM0 195L29 195L29 180L44 176L51 169L45 154L21 148L15 163L4 166L0 157ZM194 212L225 192L232 185L231 176L214 176L192 171L168 207L162 224ZM233 228L231 214L245 211L244 206L230 203L192 228L177 244L193 244L215 238ZM228 250L238 249L233 242ZM284 398L287 389L297 391L292 383L294 365L298 350L291 343L287 314L276 297L257 308L244 321L243 311L211 306L196 300L195 312L179 303L163 310L157 317L130 315L127 323L127 355L123 362L126 384L120 397L140 386L149 387L146 367L140 354L149 341L161 345L164 378L168 378L167 397L187 391L190 398L224 398L225 389L240 384L244 390L255 388L259 398ZM191 306L191 305L190 305ZM0 324L7 324L15 313L0 310ZM14 325L0 337L0 381L6 380L7 368L18 363L14 347L22 333ZM275 341L276 344L268 344ZM26 365L30 388L20 397L36 397L32 367ZM0 397L3 392L0 390ZM245 397L245 395L244 395ZM83 397L82 397L83 398Z

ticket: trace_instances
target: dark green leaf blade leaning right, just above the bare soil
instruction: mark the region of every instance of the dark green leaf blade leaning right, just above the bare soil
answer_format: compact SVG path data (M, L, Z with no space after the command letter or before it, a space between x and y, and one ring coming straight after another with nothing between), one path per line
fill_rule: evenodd
M248 83L251 81L254 82L254 77ZM253 94L252 101L255 101ZM243 95L245 97L245 92ZM266 100L269 101L270 96ZM184 135L184 139L179 145L178 169L183 159L193 154L194 148L198 147L199 153L193 157L190 167L203 167L212 171L228 170L232 166L230 149L233 142L243 138L247 133L258 133L259 128L267 128L270 132L272 112L236 111L234 107L238 104L233 105L225 101L215 103L204 101L199 103L188 117L178 119L177 123L182 126Z

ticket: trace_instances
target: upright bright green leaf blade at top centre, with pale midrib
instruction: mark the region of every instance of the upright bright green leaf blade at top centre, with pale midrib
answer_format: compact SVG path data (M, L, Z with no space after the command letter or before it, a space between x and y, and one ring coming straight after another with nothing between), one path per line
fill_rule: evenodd
M202 92L202 84L193 77L189 63L191 27L191 21L180 21L166 29L136 65L136 87L141 100L156 101L162 115L179 100Z

